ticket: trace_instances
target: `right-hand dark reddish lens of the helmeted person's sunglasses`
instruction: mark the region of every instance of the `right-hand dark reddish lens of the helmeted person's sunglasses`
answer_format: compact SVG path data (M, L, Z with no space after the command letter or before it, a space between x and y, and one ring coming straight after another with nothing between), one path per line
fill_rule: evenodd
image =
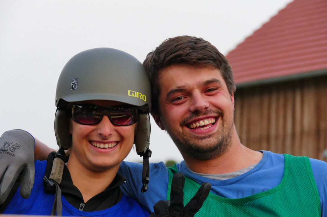
M114 124L129 125L134 123L136 116L135 108L113 107L110 109L110 117Z

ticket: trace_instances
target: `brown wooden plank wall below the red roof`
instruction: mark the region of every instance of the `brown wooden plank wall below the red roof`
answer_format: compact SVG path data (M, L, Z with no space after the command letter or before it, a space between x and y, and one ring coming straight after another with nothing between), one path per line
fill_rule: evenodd
M327 76L239 88L234 99L243 145L327 161Z

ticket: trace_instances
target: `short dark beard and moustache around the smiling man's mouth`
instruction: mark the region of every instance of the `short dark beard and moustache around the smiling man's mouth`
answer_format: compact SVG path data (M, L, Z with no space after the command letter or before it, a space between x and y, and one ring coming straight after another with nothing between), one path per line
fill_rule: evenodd
M209 112L212 114L212 111ZM187 155L201 161L214 159L223 155L231 146L232 130L234 126L233 122L230 126L226 126L227 120L224 119L223 113L221 111L215 112L215 114L217 113L220 115L223 121L221 123L218 135L216 135L215 138L213 135L208 135L201 137L201 139L191 139L184 132L174 135L174 133L170 132L168 128L166 128L166 131L181 152L184 152ZM192 115L191 117L187 118L187 120L183 120L181 122L181 126L183 126L189 119L192 119L195 116L198 115ZM212 139L208 141L208 138ZM194 143L193 140L196 140L197 143Z

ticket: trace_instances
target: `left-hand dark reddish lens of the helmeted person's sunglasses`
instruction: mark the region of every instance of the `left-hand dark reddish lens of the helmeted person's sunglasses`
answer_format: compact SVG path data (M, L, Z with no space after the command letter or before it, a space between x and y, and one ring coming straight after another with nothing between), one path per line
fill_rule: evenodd
M75 107L75 119L81 124L95 124L101 117L101 111L96 106L78 105Z

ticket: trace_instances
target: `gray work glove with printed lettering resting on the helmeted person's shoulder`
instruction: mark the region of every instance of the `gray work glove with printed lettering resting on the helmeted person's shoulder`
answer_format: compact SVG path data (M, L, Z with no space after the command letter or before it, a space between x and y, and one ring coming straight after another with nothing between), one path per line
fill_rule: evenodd
M17 178L21 196L30 196L35 174L34 147L34 137L23 130L6 131L0 137L0 204L5 202Z

